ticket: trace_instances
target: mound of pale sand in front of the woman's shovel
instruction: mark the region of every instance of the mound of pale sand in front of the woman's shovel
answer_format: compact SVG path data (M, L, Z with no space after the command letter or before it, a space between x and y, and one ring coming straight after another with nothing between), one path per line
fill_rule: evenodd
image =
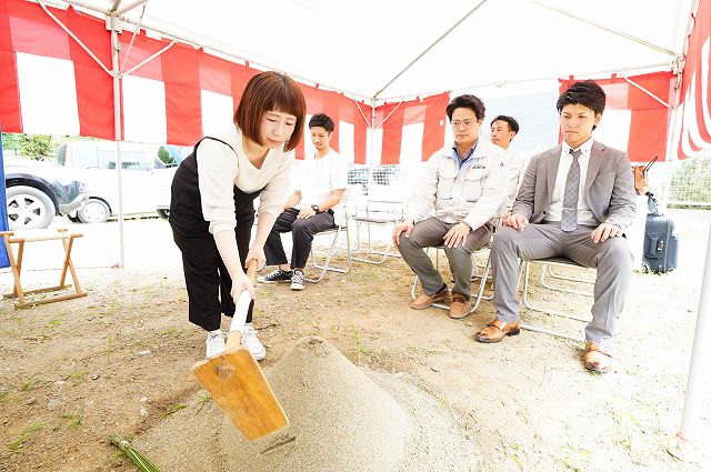
M472 444L431 396L401 375L364 373L320 338L300 340L267 378L287 430L249 442L200 402L138 446L171 471L461 471L475 463Z

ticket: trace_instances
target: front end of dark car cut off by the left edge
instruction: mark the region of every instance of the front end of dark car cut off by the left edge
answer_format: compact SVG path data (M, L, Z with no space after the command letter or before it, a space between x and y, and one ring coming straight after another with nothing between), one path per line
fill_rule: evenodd
M6 157L3 169L11 231L47 228L54 215L81 210L89 198L83 182L59 165Z

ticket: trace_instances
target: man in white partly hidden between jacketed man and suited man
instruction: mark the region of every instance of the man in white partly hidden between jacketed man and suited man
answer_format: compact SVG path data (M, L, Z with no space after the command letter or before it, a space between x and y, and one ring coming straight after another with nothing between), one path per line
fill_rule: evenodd
M513 137L519 133L519 122L513 117L500 114L491 120L491 142L507 150L507 173L509 177L509 188L507 198L499 208L499 215L503 220L511 214L511 208L515 200L515 194L523 181L523 173L529 164L530 155L511 147Z

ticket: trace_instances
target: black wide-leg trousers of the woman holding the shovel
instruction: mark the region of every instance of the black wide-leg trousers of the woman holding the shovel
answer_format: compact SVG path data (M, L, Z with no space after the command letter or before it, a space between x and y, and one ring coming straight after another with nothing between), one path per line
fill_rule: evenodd
M249 251L251 230L251 222L248 224L241 221L238 221L234 229L242 267ZM236 307L230 294L232 279L218 252L214 237L207 233L199 238L182 238L173 231L173 240L182 252L182 268L188 290L188 319L204 330L218 330L220 314L232 317ZM248 323L252 321L253 308L252 300L247 312Z

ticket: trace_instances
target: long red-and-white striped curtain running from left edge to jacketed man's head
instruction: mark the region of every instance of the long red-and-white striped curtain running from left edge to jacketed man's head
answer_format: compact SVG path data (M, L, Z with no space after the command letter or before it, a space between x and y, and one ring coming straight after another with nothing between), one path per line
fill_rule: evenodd
M73 8L49 9L111 69L110 32L104 21ZM119 63L126 71L170 44L141 30L120 34ZM121 138L127 141L192 144L231 120L247 81L259 71L183 43L140 67L121 81ZM323 112L337 123L332 147L356 163L367 163L370 103L301 84L309 114ZM4 132L114 139L111 76L36 2L0 0L0 125ZM384 124L382 162L400 162L403 133L408 151L442 145L431 133L444 114L445 94L404 102ZM442 106L442 102L444 104ZM382 122L388 104L375 109ZM417 143L408 127L423 127ZM434 127L437 128L437 127ZM440 142L441 141L441 142ZM297 149L303 159L304 143ZM409 155L409 154L408 154ZM417 157L421 159L421 157Z

